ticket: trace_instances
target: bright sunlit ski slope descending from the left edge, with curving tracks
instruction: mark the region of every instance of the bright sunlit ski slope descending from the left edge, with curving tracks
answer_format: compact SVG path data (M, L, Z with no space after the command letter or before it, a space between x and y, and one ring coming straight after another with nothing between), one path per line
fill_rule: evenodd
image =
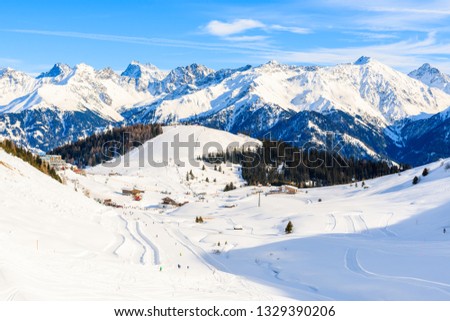
M172 232L183 221L100 205L78 176L59 184L0 149L1 300L281 298L202 259Z

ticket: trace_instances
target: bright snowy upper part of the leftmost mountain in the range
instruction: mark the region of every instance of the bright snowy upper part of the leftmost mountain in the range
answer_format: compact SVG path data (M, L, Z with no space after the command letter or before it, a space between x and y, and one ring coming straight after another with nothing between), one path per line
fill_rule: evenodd
M8 74L8 73L7 73ZM20 113L30 109L55 109L58 111L91 111L104 119L120 121L118 110L148 99L147 91L138 91L111 69L96 71L92 67L79 64L74 68L56 64L50 71L37 78L20 75L22 82L16 81L22 96L10 99L6 93L0 101L9 102L0 107L0 113ZM5 81L5 75L1 77ZM17 76L16 76L17 78Z

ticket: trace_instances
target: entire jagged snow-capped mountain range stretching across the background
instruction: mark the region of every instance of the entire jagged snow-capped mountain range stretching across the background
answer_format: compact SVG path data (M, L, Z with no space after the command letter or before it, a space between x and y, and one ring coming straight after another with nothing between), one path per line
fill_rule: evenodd
M120 74L58 63L37 77L5 68L0 137L46 152L109 126L181 122L298 146L332 137L347 157L420 165L450 156L449 83L429 64L406 75L369 57L169 72L133 61Z

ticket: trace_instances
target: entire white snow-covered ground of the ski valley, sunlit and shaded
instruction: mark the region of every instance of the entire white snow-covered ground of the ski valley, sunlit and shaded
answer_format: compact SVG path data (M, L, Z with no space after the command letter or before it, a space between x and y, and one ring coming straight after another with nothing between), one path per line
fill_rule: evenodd
M248 140L173 126L153 142L170 144L177 133L201 144ZM287 195L246 186L238 165L139 168L137 157L86 176L66 170L62 185L0 150L1 299L450 299L449 159L427 165L425 177L419 167L366 180L368 188ZM229 182L238 188L223 192ZM123 187L143 189L142 200ZM164 197L188 203L164 206Z

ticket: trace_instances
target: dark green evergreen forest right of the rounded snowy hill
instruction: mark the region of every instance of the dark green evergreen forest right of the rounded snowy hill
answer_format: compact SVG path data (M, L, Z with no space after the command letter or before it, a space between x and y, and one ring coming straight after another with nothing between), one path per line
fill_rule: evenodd
M329 186L398 173L410 166L385 161L343 158L330 152L299 148L284 142L263 141L253 150L226 151L205 157L211 163L229 161L242 165L242 177L250 184L290 184L298 187Z

